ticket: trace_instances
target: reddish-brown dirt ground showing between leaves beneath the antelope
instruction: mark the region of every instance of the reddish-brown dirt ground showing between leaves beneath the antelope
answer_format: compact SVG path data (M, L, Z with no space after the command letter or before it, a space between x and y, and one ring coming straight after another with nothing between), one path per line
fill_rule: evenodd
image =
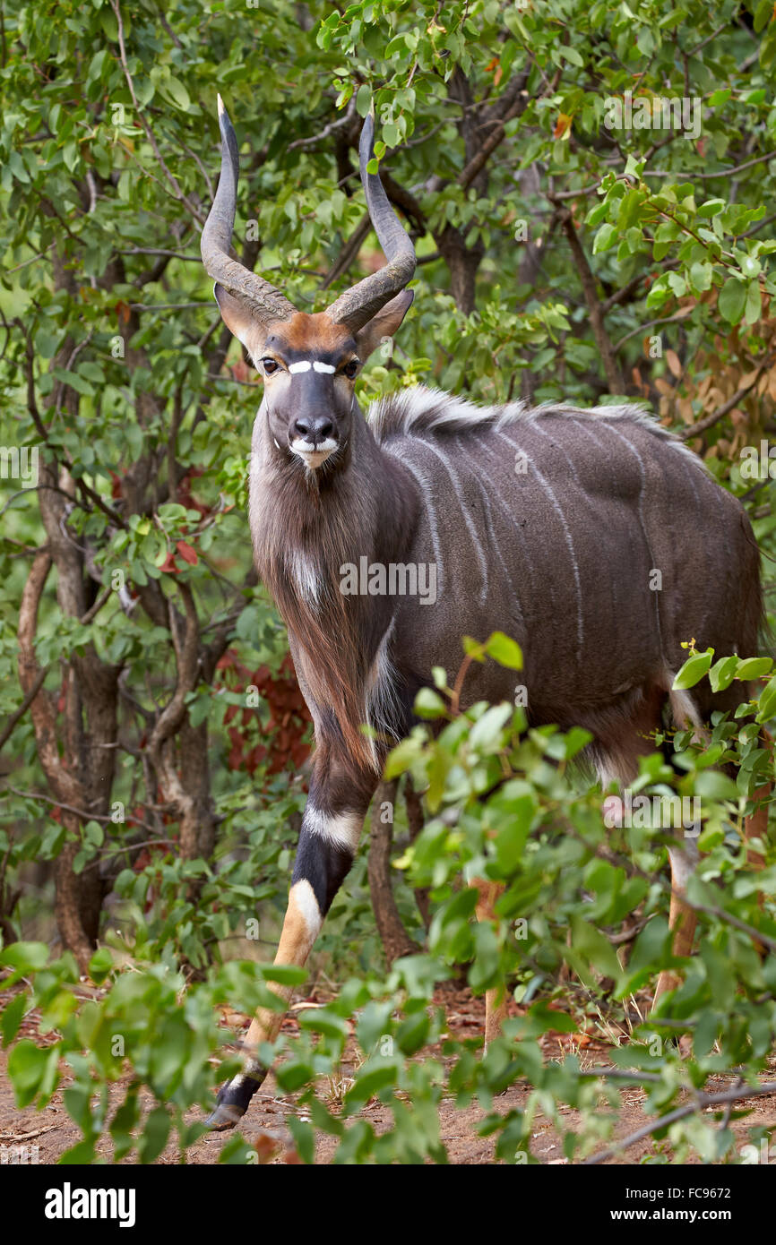
M0 1007L7 1002L10 991L5 994L0 990ZM305 1000L305 1005L315 1000ZM318 998L320 1001L320 998ZM468 990L462 989L456 992L446 991L440 995L437 1002L446 1008L447 1023L451 1035L456 1037L478 1036L483 1028L485 1006L481 998L473 997ZM237 1017L232 1015L229 1021L235 1023ZM247 1023L247 1021L245 1021ZM284 1032L289 1036L298 1031L296 1021L290 1015L284 1022ZM35 1012L25 1017L22 1030L19 1036L31 1037L40 1041L36 1027ZM615 1037L615 1035L613 1035ZM625 1036L625 1035L623 1035ZM543 1038L543 1047L547 1058L559 1058L570 1052L580 1056L583 1066L590 1068L608 1064L608 1050L610 1045L602 1040L595 1032L561 1035L549 1032ZM430 1048L431 1053L438 1056L438 1050ZM346 1050L341 1066L343 1083L328 1083L324 1089L331 1094L329 1107L348 1088L348 1077L353 1073L354 1051ZM42 1112L35 1107L17 1111L14 1101L14 1092L6 1073L7 1051L0 1052L0 1144L4 1145L30 1145L37 1147L35 1159L41 1164L56 1163L59 1157L80 1140L80 1132L70 1119L62 1102L62 1092L69 1084L69 1069L64 1068L64 1077L57 1092L44 1108ZM776 1061L775 1061L776 1069ZM772 1074L771 1074L772 1079ZM715 1077L709 1084L710 1092L720 1092L732 1083L732 1077ZM121 1086L121 1083L120 1083ZM118 1088L117 1087L117 1092ZM506 1093L496 1099L494 1109L507 1113L517 1107L522 1107L528 1098L527 1084L514 1084ZM643 1111L645 1094L640 1088L625 1087L620 1091L620 1113L617 1128L617 1137L623 1138L635 1132L649 1118ZM144 1106L152 1106L149 1094L141 1094ZM739 1145L749 1140L749 1129L752 1125L762 1125L776 1133L776 1094L762 1098L754 1098L736 1104L736 1111L750 1108L750 1114L744 1119L735 1119L730 1127L740 1139ZM284 1096L277 1088L275 1079L270 1074L262 1089L255 1094L248 1114L242 1122L239 1132L245 1142L257 1150L260 1163L299 1163L286 1118L290 1113L299 1113L294 1099ZM370 1120L375 1132L380 1133L391 1127L391 1112L379 1102L369 1103L360 1113L362 1118ZM467 1109L457 1109L452 1099L445 1098L440 1108L441 1138L447 1148L450 1162L453 1164L492 1164L493 1138L477 1135L477 1125L482 1120L485 1112L478 1106ZM577 1123L577 1113L570 1108L564 1112L569 1128ZM191 1122L198 1118L198 1113L192 1111L188 1117ZM188 1163L211 1164L218 1163L218 1157L224 1144L233 1137L232 1132L213 1133L201 1138L188 1150ZM776 1140L776 1137L774 1138ZM635 1145L629 1147L627 1155L609 1159L612 1164L639 1163L644 1155L658 1153L658 1145L663 1153L665 1143L655 1143L651 1138L645 1138ZM331 1160L336 1147L335 1138L319 1134L315 1162L325 1164ZM533 1133L532 1154L543 1164L565 1164L563 1158L561 1138L549 1122L539 1116ZM110 1160L112 1154L111 1140L106 1138L97 1147L100 1154ZM34 1152L35 1153L35 1152ZM168 1144L158 1163L178 1163L178 1152L174 1144ZM132 1163L132 1155L123 1160ZM696 1162L699 1162L696 1159Z

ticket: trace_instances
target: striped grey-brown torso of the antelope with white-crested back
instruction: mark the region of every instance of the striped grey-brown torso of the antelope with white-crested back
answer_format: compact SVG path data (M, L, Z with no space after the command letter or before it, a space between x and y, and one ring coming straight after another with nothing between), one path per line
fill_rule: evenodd
M533 720L564 725L670 684L683 641L755 651L749 519L640 408L481 408L419 387L367 418L423 496L411 559L437 566L437 601L423 626L423 608L397 598L394 639L399 661L405 636L416 665L420 649L419 677L453 674L461 635L498 627L523 646ZM513 684L488 664L471 695Z

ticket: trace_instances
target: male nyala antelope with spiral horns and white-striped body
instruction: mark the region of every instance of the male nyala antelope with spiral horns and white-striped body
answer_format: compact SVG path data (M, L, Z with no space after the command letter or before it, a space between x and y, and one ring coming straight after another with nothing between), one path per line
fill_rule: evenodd
M411 727L432 666L458 669L462 635L513 636L524 652L529 722L585 727L602 782L627 784L664 715L700 730L712 710L737 703L734 686L689 695L671 685L690 636L719 654L756 651L760 568L739 502L632 406L477 407L419 386L364 418L356 377L404 320L415 271L410 238L367 172L372 118L361 133L361 181L387 263L326 311L308 314L230 258L239 157L220 98L218 110L220 179L202 259L224 322L264 377L250 532L315 727L275 959L303 965L351 865L391 741ZM435 603L341 591L344 568L362 558L433 566ZM463 703L512 700L513 672L477 665L465 692ZM675 950L686 954L686 844L671 849L670 863ZM478 919L492 919L497 894L481 884ZM673 985L664 974L658 989ZM486 1007L488 1041L503 1000L491 991ZM255 1052L280 1023L279 1012L253 1020L244 1072L222 1088L213 1128L244 1114L267 1072Z

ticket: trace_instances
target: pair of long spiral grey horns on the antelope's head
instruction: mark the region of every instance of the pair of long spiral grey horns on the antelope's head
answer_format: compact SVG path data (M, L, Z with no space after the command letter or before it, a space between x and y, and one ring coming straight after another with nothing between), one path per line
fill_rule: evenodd
M218 125L220 128L220 177L211 214L202 230L202 263L213 280L229 294L247 299L257 319L269 324L273 320L290 320L296 308L285 295L257 276L229 255L234 213L237 209L237 183L239 178L239 153L234 128L223 100L218 96ZM359 144L361 183L366 207L387 264L377 273L365 276L331 304L326 315L334 324L344 324L350 332L357 332L367 320L400 293L415 271L415 248L405 233L396 213L382 189L382 182L366 166L374 157L374 115L364 121Z

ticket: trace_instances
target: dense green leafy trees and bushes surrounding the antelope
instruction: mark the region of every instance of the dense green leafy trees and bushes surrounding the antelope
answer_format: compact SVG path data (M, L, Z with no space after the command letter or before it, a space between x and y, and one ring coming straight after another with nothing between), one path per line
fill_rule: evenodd
M260 961L304 801L306 715L250 569L259 388L198 255L215 93L242 149L238 253L310 309L379 263L355 157L375 103L384 182L420 265L400 337L360 381L362 405L417 381L488 402L645 400L742 497L771 558L775 60L767 0L2 0L4 985L31 982L56 1038L12 1046L19 1102L46 1101L61 1056L75 1072L76 1160L108 1127L117 1155L131 1148L140 1087L158 1099L142 1160L171 1124L182 1149L193 1139L183 1112L206 1101L223 1042L213 1006L249 1010L279 971ZM679 110L659 128L666 101ZM703 650L703 636L686 640ZM715 657L690 651L686 685L739 677L746 702L744 679L770 677L767 661ZM519 665L501 641L470 660ZM446 691L456 676L441 674L438 697L419 706L450 716L441 736L415 735L391 762L428 788L430 819L395 870L400 913L426 949L375 971L360 857L315 961L346 984L303 1013L279 1073L309 1101L311 1124L293 1125L305 1159L316 1125L340 1138L340 1162L441 1162L443 1089L488 1108L518 1079L533 1097L492 1117L499 1154L529 1155L539 1104L565 1132L570 1103L584 1122L565 1140L578 1158L612 1124L615 1082L602 1109L602 1081L575 1057L543 1062L537 1038L624 1006L670 960L665 832L607 830L600 791L567 764L583 740L526 733L511 706L460 715ZM764 677L760 721L775 710ZM681 777L655 752L640 786L703 802L690 895L701 952L663 1020L613 1058L660 1112L715 1072L765 1069L776 1000L776 961L751 936L776 950L776 874L769 857L754 880L741 845L772 764L756 726L736 720L715 723L705 751L674 745ZM712 768L731 759L737 783ZM494 773L506 786L485 797ZM472 921L463 868L507 883L498 929ZM430 889L427 939L414 889ZM625 962L609 935L633 914L644 924ZM128 962L137 971L122 972ZM477 991L516 981L527 1008L507 1033L522 1041L504 1037L485 1061L428 1010L433 982L462 964ZM85 974L100 989L81 1006ZM4 1013L6 1043L29 1006L25 987ZM364 1062L331 1111L316 1086L353 1015ZM678 1032L691 1035L688 1058L665 1042ZM416 1057L440 1037L442 1059ZM115 1116L106 1087L125 1073ZM380 1139L356 1116L372 1094L395 1116ZM680 1157L689 1145L730 1155L727 1120L710 1118L694 1108L671 1125ZM225 1157L245 1160L240 1145Z

